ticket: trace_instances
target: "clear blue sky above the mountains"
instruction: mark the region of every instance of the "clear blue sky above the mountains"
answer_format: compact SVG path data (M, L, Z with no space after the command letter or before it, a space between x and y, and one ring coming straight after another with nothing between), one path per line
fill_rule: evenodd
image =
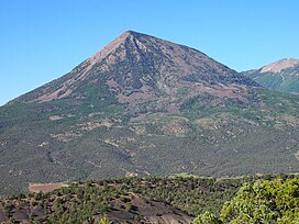
M0 104L63 76L126 30L235 70L299 58L298 0L1 0Z

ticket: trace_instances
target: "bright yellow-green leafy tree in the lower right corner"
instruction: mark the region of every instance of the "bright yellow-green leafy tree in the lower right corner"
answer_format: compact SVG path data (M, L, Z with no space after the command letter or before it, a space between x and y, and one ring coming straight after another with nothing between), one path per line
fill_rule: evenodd
M221 211L224 223L299 223L299 179L244 184Z

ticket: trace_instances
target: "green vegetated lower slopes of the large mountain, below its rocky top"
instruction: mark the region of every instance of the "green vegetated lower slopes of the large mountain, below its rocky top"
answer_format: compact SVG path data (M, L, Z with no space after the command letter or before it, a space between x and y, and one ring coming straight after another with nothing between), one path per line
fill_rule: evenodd
M247 104L204 93L182 101L179 114L135 121L107 89L92 86L85 100L1 107L0 193L25 192L27 182L126 175L298 170L298 96L252 91Z

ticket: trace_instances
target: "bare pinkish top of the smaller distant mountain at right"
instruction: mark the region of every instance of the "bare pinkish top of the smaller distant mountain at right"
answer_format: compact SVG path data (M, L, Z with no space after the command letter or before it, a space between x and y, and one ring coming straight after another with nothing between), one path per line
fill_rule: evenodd
M294 68L299 65L299 60L295 58L284 58L266 65L262 68L261 72L275 72L278 74L284 69Z

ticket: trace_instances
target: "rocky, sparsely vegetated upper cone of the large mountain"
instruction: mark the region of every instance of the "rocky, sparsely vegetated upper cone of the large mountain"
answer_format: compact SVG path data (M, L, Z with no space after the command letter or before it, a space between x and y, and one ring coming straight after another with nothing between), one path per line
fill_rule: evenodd
M241 86L257 83L197 49L126 31L69 74L14 101L84 99L90 87L129 104L175 101L181 88L239 98L245 96Z

